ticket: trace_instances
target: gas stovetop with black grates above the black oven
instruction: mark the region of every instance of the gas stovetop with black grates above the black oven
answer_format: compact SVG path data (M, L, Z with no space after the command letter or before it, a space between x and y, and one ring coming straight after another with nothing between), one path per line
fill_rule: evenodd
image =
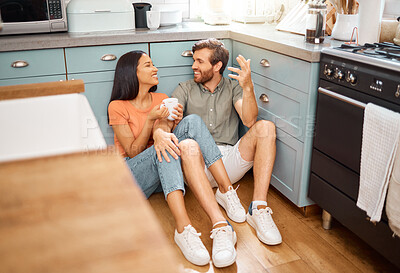
M400 72L400 46L393 43L342 44L323 53Z

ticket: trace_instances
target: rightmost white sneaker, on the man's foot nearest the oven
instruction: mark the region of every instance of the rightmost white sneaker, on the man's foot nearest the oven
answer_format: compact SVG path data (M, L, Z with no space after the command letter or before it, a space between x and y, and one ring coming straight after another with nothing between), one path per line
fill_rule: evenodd
M258 239L267 245L282 243L282 236L271 216L272 209L269 207L254 209L252 214L250 214L250 211L246 216L247 222L256 230Z

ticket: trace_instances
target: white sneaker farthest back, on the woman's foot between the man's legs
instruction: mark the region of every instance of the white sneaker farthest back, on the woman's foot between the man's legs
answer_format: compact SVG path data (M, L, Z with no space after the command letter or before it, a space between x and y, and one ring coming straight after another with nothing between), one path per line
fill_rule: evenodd
M215 193L215 199L218 204L221 205L228 214L228 217L235 221L236 223L243 223L246 220L246 211L240 203L239 197L237 196L236 190L239 188L237 186L234 189L232 186L229 186L228 191L226 193L222 193L219 189L217 189Z

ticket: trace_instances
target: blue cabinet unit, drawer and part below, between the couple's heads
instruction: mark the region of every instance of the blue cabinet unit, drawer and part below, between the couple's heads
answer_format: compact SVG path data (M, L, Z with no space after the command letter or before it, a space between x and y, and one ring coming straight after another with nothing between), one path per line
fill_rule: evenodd
M232 41L222 40L225 47L232 52ZM171 96L180 82L193 79L192 46L197 41L150 43L150 57L158 68L159 84L157 92ZM232 58L228 62L231 66ZM229 71L225 71L226 76Z

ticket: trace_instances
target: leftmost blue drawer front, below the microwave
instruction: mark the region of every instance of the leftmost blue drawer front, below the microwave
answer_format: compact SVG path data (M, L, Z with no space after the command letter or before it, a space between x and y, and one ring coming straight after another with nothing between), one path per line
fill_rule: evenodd
M27 66L18 68L12 67L13 63L16 65L22 65L23 62L25 62ZM0 53L0 79L57 74L65 75L63 49L44 49Z

